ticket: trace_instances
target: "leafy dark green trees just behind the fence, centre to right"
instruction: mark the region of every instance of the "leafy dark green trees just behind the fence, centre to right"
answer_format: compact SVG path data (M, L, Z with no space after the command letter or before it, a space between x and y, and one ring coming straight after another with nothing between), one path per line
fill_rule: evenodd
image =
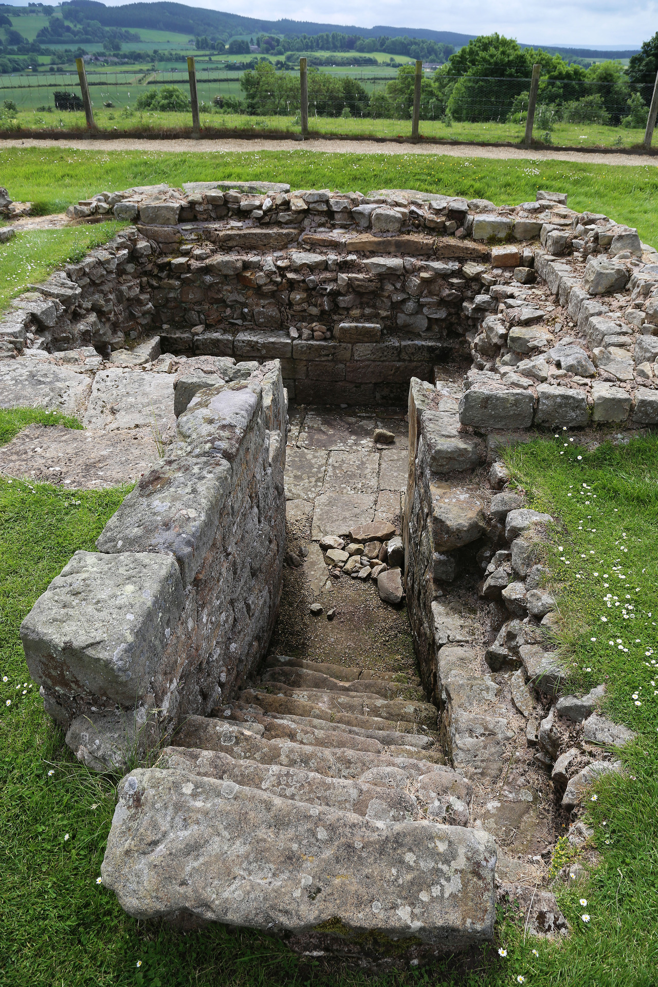
M541 65L538 127L558 120L641 127L646 123L658 71L658 33L645 41L624 68L619 61L585 69L567 64L542 48L521 48L497 34L475 38L450 55L432 75L423 74L421 119L522 122L528 108L534 64ZM309 114L367 115L404 119L413 107L414 68L402 65L397 78L372 95L356 79L309 68ZM266 60L241 78L247 114L288 114L299 108L299 81L277 72ZM231 110L238 101L223 100Z

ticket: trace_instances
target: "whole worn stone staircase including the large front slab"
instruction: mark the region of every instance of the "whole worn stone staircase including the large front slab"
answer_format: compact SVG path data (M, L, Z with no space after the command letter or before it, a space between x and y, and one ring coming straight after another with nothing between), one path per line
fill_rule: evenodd
M415 965L492 936L496 847L468 828L472 798L419 679L269 657L123 779L103 882L138 918Z

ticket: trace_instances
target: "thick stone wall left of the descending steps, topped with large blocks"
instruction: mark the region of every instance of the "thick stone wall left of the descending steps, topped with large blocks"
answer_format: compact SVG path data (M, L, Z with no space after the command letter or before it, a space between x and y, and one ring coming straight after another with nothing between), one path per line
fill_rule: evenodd
M21 627L46 712L96 770L230 697L263 657L276 618L280 364L192 389L186 401L174 455L139 481L99 551L76 552Z

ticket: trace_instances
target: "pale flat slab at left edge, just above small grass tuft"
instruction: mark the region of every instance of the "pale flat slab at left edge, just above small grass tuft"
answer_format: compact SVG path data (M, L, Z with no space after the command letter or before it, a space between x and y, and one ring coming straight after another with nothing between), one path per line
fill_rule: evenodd
M89 374L37 356L0 362L0 408L47 408L80 415L92 389Z

